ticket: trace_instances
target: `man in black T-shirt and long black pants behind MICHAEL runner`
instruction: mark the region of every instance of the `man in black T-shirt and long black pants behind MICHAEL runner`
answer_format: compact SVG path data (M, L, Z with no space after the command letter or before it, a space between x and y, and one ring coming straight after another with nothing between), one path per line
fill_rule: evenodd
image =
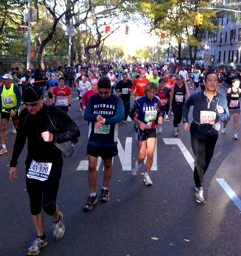
M123 123L127 123L127 117L130 111L130 93L131 93L132 82L130 80L127 80L126 72L123 73L122 77L123 77L123 81L119 81L116 84L115 91L118 93L119 97L123 101L124 109L125 109Z

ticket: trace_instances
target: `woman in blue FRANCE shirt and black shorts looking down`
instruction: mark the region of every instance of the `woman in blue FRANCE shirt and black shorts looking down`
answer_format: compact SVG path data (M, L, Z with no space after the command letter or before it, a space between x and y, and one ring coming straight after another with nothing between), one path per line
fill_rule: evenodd
M139 155L131 173L133 176L137 176L137 172L147 155L144 175L144 182L147 186L152 185L149 172L152 167L156 144L156 125L157 123L159 125L163 123L163 116L160 115L161 103L158 96L156 96L157 93L158 89L155 83L147 84L144 97L136 100L129 113L130 118L136 123L136 144L139 149ZM139 113L137 118L135 117L136 111Z

